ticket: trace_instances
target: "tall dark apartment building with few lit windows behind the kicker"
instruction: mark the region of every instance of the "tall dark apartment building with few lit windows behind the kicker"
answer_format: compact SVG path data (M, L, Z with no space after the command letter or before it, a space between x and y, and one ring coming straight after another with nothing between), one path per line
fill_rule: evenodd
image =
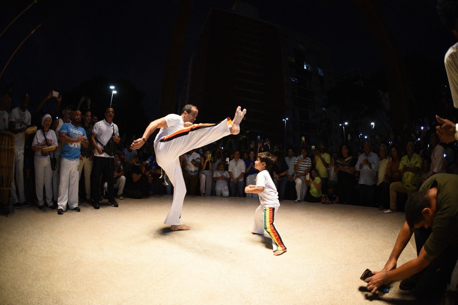
M199 122L213 123L237 106L247 109L248 140L299 146L319 137L324 95L333 84L327 49L298 32L259 18L235 2L212 9L202 29L177 105L199 107Z

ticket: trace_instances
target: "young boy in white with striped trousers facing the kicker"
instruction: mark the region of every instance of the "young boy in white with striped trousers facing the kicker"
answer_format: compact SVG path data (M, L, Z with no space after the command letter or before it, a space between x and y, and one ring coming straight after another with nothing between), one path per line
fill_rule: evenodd
M251 233L264 234L264 230L266 230L270 237L272 237L273 255L280 255L286 252L286 247L273 224L275 214L277 214L278 207L280 206L277 189L268 171L274 163L273 155L270 152L258 154L255 161L255 168L259 171L256 176L256 185L245 187L245 193L258 194L261 203L256 209L255 223Z

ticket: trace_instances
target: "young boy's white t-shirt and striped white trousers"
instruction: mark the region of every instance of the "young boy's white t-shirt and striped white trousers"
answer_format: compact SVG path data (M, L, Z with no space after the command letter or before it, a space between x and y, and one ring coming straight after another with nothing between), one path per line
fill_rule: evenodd
M278 193L269 171L264 170L256 176L256 187L264 187L264 191L259 193L259 202L261 203L255 212L255 221L253 233L264 234L264 230L272 238L273 251L286 250L280 233L275 228L274 220L277 214L280 202Z

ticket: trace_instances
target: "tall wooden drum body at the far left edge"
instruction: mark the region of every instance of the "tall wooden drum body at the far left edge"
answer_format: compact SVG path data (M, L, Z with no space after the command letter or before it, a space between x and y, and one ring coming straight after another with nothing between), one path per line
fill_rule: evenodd
M8 203L13 181L14 167L14 134L0 131L0 200Z

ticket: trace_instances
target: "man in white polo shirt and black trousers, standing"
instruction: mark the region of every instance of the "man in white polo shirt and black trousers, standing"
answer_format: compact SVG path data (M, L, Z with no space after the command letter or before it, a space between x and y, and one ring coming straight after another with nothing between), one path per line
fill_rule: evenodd
M114 159L112 155L107 155L102 148L110 139L114 143L119 144L119 129L113 123L114 109L108 107L105 111L105 119L94 124L92 130L91 144L95 148L94 161L91 172L91 198L94 203L94 209L100 209L100 185L99 180L102 172L105 173L108 189L108 204L113 207L118 207L118 203L114 200ZM114 135L113 135L114 134Z

